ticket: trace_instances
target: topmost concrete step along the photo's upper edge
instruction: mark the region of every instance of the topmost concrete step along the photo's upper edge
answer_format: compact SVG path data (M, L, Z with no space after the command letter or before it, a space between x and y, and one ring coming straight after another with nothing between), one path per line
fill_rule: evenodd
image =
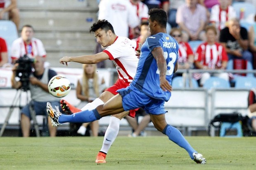
M97 8L96 0L18 0L19 9L41 8L41 9L86 9Z

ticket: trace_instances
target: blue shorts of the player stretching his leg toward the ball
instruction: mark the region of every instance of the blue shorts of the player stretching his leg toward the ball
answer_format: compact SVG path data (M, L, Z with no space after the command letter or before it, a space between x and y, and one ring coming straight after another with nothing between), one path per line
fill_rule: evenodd
M164 100L152 98L137 89L131 90L129 86L117 91L122 96L125 111L142 107L148 114L165 114Z

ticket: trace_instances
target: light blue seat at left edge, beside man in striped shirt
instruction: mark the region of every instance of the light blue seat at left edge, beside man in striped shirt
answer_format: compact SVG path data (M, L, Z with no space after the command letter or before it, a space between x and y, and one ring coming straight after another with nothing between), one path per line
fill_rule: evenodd
M0 37L5 39L8 48L8 56L11 56L10 50L12 42L18 38L17 28L12 21L0 20Z

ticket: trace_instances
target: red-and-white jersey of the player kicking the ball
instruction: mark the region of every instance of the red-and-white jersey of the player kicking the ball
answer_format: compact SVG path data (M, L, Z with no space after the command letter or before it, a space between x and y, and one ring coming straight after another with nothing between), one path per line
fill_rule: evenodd
M136 50L139 44L126 37L117 37L115 42L103 52L107 53L109 59L116 65L119 79L132 82L135 76L139 59Z

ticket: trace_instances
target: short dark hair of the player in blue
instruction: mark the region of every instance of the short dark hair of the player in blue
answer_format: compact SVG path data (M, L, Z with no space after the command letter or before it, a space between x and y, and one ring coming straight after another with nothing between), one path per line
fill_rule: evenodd
M152 8L149 10L151 21L156 21L163 28L166 28L167 14L163 9Z

